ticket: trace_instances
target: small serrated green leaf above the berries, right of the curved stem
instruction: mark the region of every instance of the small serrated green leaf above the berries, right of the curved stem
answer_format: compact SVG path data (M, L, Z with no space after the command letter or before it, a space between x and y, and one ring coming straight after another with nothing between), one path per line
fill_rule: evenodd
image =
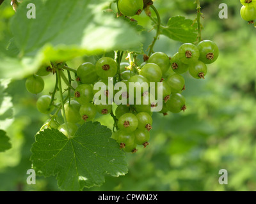
M194 43L197 37L197 24L185 17L172 17L167 26L161 26L161 33L182 43Z

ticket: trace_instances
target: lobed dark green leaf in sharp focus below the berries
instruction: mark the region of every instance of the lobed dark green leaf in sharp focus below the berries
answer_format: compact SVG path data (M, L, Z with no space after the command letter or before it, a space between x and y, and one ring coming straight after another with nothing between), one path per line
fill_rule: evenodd
M99 122L86 122L72 138L46 129L36 135L31 149L33 168L45 177L57 175L58 186L65 191L100 186L105 173L127 173L125 154L110 136L110 129Z

